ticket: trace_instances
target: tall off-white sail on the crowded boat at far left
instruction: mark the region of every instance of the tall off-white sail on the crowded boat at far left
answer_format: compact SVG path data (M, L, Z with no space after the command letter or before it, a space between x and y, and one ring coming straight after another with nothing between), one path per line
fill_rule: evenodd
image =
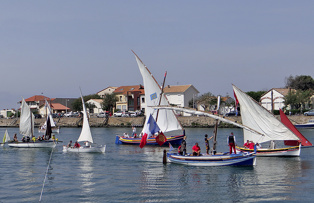
M30 136L34 134L34 120L35 116L30 111L30 107L26 104L24 98L22 97L22 104L21 104L21 117L20 117L20 134L25 136Z

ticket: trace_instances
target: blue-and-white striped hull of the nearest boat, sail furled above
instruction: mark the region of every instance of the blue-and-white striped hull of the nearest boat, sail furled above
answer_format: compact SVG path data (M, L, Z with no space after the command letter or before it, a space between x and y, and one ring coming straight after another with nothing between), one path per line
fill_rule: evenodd
M202 156L182 156L178 154L167 153L168 162L191 165L191 166L255 166L256 155L223 154Z

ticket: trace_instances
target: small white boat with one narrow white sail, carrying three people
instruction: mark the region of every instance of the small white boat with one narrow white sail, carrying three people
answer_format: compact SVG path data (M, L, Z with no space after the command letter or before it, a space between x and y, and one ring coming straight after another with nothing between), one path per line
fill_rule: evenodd
M95 144L93 137L92 137L92 134L90 132L89 122L88 122L88 117L87 117L87 111L86 111L86 107L85 107L81 88L80 88L80 93L81 93L81 98L82 98L82 103L83 103L83 126L82 126L82 131L78 137L77 142L88 141L90 143ZM105 150L106 150L106 145L100 145L100 146L95 146L95 147L91 147L91 146L90 147L84 147L84 145L83 145L80 148L67 148L67 146L63 145L63 151L65 153L67 153L67 152L78 152L78 153L105 152Z

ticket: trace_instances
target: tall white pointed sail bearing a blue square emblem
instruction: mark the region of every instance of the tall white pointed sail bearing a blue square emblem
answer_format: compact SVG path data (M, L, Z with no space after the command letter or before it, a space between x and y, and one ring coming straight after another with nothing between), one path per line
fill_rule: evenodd
M134 52L133 52L134 53ZM146 101L146 115L152 114L154 119L156 120L157 111L150 108L149 106L156 106L159 104L160 96L161 102L160 105L169 105L167 98L164 94L160 95L161 88L154 79L153 75L149 72L144 63L136 56L134 53L136 61L138 63L138 68L141 71L143 76L143 83L145 89L145 101ZM147 123L149 117L146 117L145 123ZM158 112L157 125L161 129L162 132L168 132L172 130L181 129L181 124L176 118L173 110L165 110Z

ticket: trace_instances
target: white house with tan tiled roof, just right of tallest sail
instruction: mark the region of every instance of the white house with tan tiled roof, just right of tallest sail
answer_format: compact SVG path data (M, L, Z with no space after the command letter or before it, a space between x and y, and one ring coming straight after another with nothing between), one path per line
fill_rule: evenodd
M164 94L170 104L178 107L188 107L189 101L198 97L199 91L193 85L167 85L164 87ZM189 116L184 113L183 116Z

